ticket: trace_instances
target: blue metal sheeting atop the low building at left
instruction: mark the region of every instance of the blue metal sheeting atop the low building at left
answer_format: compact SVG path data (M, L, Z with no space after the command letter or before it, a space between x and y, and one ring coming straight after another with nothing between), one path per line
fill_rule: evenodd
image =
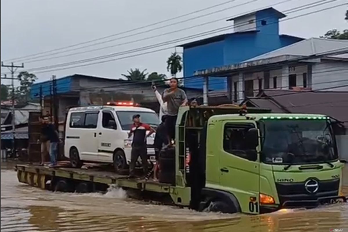
M71 91L71 81L72 81L71 76L57 79L57 94L69 93ZM31 98L40 97L40 86L42 86L42 96L49 96L50 88L52 88L50 87L52 86L52 80L35 83L34 85L32 85L30 89ZM53 90L52 90L52 94L53 94Z

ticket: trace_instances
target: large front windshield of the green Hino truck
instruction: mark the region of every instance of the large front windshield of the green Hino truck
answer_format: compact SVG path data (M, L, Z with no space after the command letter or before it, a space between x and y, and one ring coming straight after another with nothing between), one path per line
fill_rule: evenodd
M338 159L330 121L262 120L262 161L305 164Z

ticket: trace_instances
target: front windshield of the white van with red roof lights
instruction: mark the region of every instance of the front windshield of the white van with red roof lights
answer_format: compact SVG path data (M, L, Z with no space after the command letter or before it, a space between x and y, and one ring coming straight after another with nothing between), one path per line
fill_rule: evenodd
M157 114L152 112L117 111L116 114L121 123L122 130L130 130L130 127L133 125L132 118L134 114L139 114L140 121L152 127L157 127L160 123Z

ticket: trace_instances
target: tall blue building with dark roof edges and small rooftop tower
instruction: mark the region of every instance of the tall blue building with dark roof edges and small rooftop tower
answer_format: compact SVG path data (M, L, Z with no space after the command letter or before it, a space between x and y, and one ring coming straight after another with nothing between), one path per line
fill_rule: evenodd
M299 42L302 38L279 35L279 19L286 15L274 8L228 19L234 33L217 35L180 45L183 47L184 77L197 70L235 64L269 51ZM185 87L202 88L203 79L187 79ZM210 90L226 90L226 78L209 78Z

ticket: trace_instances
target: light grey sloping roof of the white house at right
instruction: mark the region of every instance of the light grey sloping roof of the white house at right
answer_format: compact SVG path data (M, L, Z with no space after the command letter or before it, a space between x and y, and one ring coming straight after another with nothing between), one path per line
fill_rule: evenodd
M310 38L293 43L283 48L279 48L269 53L247 59L243 62L256 61L259 59L269 59L277 56L313 56L321 53L330 52L337 49L348 49L348 40Z

